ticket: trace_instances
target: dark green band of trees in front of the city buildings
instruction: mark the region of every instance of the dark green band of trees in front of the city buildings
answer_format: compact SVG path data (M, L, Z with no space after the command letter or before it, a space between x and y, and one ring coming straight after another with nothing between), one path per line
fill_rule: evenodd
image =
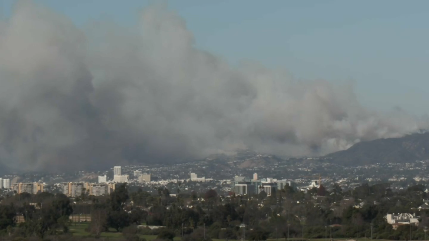
M157 189L150 194L127 185L105 197L82 195L71 200L63 194L19 194L0 204L2 240L80 240L99 238L103 232L122 233L120 238L143 240L156 235L159 240L267 238L372 238L423 240L429 226L429 210L418 209L427 198L425 187L415 185L392 191L389 184L363 184L343 192L313 188L299 192L291 187L271 196L219 196L216 191L180 193ZM418 225L392 226L387 214L415 213ZM78 219L77 219L78 218ZM85 237L73 236L76 221L88 225ZM140 228L137 228L140 225ZM163 226L150 229L150 226ZM372 232L371 232L372 231Z

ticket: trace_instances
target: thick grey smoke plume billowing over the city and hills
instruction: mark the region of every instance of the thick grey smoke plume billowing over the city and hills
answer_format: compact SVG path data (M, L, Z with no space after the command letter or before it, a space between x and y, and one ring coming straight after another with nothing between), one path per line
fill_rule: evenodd
M427 127L363 108L351 86L235 68L193 46L177 14L136 29L19 2L0 24L0 162L23 170L199 158L238 148L319 155Z

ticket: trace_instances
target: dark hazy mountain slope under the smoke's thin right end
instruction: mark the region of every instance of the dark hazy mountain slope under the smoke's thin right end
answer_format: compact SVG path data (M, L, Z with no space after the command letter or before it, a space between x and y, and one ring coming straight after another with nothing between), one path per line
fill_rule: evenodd
M351 166L426 160L429 159L429 133L359 142L347 150L325 157L332 158L333 162Z

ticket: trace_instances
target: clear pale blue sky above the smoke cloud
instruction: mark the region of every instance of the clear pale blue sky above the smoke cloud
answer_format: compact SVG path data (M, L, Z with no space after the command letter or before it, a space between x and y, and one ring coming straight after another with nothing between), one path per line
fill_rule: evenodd
M0 0L3 18L15 1ZM108 18L137 24L153 1L35 0L78 26ZM193 32L196 47L231 64L250 59L300 79L352 81L361 103L429 113L429 1L168 2Z

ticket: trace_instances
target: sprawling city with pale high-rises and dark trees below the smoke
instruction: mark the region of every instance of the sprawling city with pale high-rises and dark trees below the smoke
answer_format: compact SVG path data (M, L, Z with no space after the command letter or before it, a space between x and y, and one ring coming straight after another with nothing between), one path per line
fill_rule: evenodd
M1 179L5 239L423 240L428 160L342 166L239 152Z

